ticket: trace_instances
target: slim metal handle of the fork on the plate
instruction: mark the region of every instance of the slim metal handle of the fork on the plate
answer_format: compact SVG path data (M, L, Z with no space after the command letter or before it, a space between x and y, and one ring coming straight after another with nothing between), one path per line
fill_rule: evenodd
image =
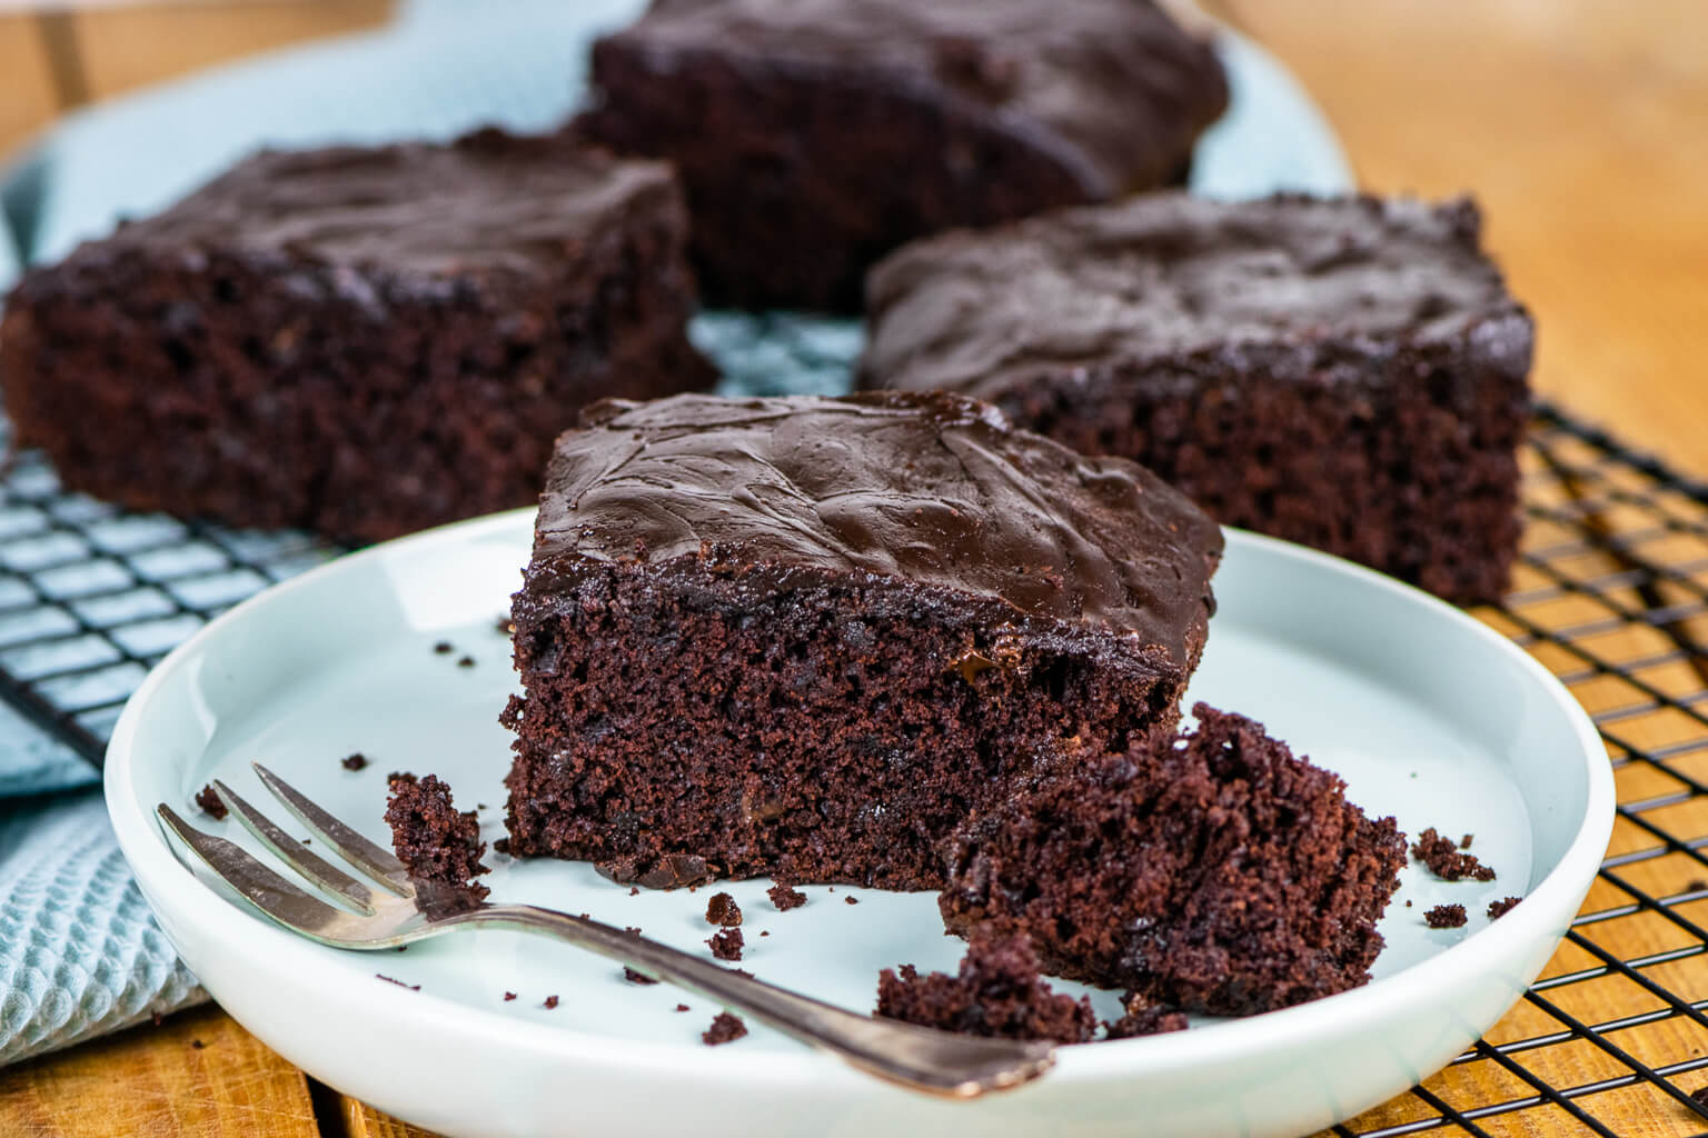
M603 921L531 904L487 904L446 923L548 933L678 988L752 1015L890 1082L970 1099L1016 1087L1056 1063L1047 1041L955 1036L897 1020L857 1015L697 955L646 940Z

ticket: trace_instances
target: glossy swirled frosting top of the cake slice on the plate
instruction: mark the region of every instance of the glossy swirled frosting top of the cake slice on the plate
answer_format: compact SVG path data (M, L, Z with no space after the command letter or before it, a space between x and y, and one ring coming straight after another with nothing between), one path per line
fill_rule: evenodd
M1124 459L1088 459L946 394L606 401L565 432L545 561L868 573L1134 633L1175 662L1211 607L1216 529Z

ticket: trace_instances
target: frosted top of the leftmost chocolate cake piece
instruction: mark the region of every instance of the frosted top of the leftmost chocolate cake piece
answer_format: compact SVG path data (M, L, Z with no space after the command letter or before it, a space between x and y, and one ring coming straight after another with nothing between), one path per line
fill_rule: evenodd
M424 275L560 273L658 195L675 195L666 165L567 136L482 130L449 145L263 150L94 247L289 254Z

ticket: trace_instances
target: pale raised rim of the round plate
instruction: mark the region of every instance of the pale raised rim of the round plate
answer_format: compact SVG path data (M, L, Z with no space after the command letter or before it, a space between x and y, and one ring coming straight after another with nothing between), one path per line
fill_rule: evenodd
M138 756L135 744L140 723L149 711L154 694L176 671L186 667L210 642L225 636L227 630L251 619L258 609L280 604L282 597L290 597L301 590L328 587L338 577L360 573L376 563L395 558L425 556L439 546L482 541L509 531L528 534L531 532L529 519L533 514L533 508L521 508L454 522L328 561L234 606L174 648L149 672L142 686L138 686L137 693L125 705L113 730L113 739L108 746L104 795L120 848L126 862L130 862L138 884L143 887L150 908L159 908L155 899L159 896L174 913L183 914L184 920L193 920L203 926L219 925L220 935L229 937L225 943L227 952L244 952L254 959L266 957L275 961L282 952L285 959L277 961L275 967L299 967L297 961L301 961L301 966L314 967L316 961L323 961L321 954L342 952L316 945L254 914L246 914L253 920L229 920L229 909L234 908L232 903L205 885L179 860L164 829L154 821L152 804L145 805L137 797L135 776ZM1454 983L1467 983L1474 974L1483 973L1484 969L1477 966L1479 959L1517 955L1522 954L1524 945L1541 938L1547 938L1551 945L1556 943L1570 926L1570 918L1576 913L1583 892L1594 880L1611 838L1614 780L1606 749L1588 715L1541 662L1469 613L1399 580L1274 537L1237 529L1225 529L1225 532L1230 549L1247 546L1266 556L1307 561L1317 572L1351 575L1366 587L1389 592L1397 604L1426 606L1433 609L1436 618L1459 626L1460 631L1481 640L1489 650L1505 657L1518 671L1529 672L1534 681L1539 681L1541 689L1551 696L1556 710L1571 723L1573 735L1580 744L1576 763L1587 780L1583 814L1565 853L1525 894L1525 903L1534 901L1534 904L1520 904L1503 920L1476 930L1459 943L1411 964L1392 976L1383 976L1351 991L1291 1008L1206 1024L1189 1032L1102 1041L1095 1048L1064 1048L1059 1054L1057 1070L1050 1075L1050 1080L1057 1083L1098 1082L1114 1075L1167 1075L1204 1063L1225 1063L1237 1056L1264 1053L1281 1044L1298 1046L1301 1041L1308 1041L1324 1031L1349 1031L1356 1024L1370 1024L1389 1015L1397 1015L1401 1008L1416 998L1407 993L1418 988L1436 990ZM1558 913L1565 914L1563 921L1554 916ZM161 925L167 928L173 921L162 920ZM1546 957L1542 959L1546 961ZM1524 986L1532 979L1534 976L1524 978ZM521 1048L552 1063L663 1065L675 1075L716 1077L719 1082L752 1080L755 1087L782 1087L803 1082L820 1083L825 1078L837 1078L839 1075L864 1080L864 1077L837 1063L834 1058L804 1046L791 1051L767 1049L743 1053L741 1049L714 1049L685 1046L681 1042L613 1037L576 1025L531 1024L497 1010L439 996L430 991L391 991L389 986L372 984L369 978L343 967L326 969L318 983L335 986L328 988L330 998L345 1000L352 1008L383 1008L386 1015L418 1022L424 1029L432 1025L442 1031L446 1015L454 1015L459 1041L466 1046L492 1046L502 1051ZM1522 995L1524 986L1513 988L1513 1000ZM1488 1025L1483 1025L1477 1031L1486 1029ZM256 1034L263 1032L258 1031Z

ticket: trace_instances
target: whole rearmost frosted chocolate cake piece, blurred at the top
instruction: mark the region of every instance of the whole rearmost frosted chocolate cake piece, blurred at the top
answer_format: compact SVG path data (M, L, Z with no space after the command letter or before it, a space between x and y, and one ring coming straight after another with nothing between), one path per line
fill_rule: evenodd
M654 0L579 130L676 164L709 304L854 312L905 241L1180 181L1226 102L1151 0Z

